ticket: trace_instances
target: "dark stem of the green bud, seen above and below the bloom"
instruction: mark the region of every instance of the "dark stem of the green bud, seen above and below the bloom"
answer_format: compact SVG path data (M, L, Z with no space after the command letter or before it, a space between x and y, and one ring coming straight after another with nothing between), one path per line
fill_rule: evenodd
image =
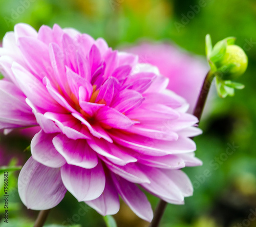
M206 99L207 99L207 96L208 96L208 93L210 90L210 85L211 85L213 78L214 78L214 75L211 73L211 71L209 71L204 79L204 83L201 88L201 92L199 94L197 104L196 104L196 107L193 112L193 115L198 118L198 121L200 121L200 119L201 119L204 105L205 105L205 102L206 102ZM164 200L161 199L157 205L156 210L155 210L154 218L150 224L150 227L158 227L159 226L159 223L161 221L161 218L163 216L166 206L167 206L167 202L165 202Z

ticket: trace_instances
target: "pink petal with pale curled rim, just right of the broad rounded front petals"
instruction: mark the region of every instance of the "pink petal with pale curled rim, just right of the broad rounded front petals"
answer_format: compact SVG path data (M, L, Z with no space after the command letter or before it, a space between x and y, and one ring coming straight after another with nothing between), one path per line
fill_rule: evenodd
M132 153L131 150L125 147L117 146L96 138L88 141L88 143L95 152L106 157L114 164L124 166L127 163L134 163L137 161L137 158L130 155Z

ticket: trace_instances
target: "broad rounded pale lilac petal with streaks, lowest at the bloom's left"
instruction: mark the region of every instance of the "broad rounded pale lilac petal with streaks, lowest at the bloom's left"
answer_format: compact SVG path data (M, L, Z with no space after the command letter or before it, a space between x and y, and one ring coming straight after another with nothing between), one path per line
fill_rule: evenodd
M19 173L20 199L33 210L48 210L58 205L67 192L59 168L50 168L33 160L26 162Z

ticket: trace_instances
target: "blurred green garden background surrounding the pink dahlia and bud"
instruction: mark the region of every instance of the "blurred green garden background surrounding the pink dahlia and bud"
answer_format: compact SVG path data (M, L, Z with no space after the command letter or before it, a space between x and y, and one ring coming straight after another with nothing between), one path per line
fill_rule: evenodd
M195 6L199 4L203 7L198 10ZM233 98L216 97L208 103L210 112L200 125L204 133L195 139L196 155L204 165L185 168L195 187L194 196L186 198L184 206L168 205L161 226L256 226L255 0L0 0L0 6L0 40L18 22L26 22L37 30L43 24L52 27L57 23L62 28L73 27L94 38L103 37L113 48L136 44L142 38L164 39L204 55L207 33L214 43L236 36L236 43L249 59L248 70L239 79L246 88L237 90ZM193 9L194 16L191 16ZM29 140L22 135L17 139L16 134L1 135L0 139L7 156L16 152L18 160L12 162L23 165L30 155L29 151L24 151ZM232 148L227 150L228 147ZM1 227L32 226L37 215L36 211L27 211L20 202L17 175L18 171L10 172L13 192L9 200L10 223L1 220ZM155 208L158 199L150 195L148 198ZM77 215L79 209L86 214ZM0 211L3 212L1 203ZM124 204L115 218L122 227L148 225ZM99 214L84 203L78 203L70 194L52 209L47 223L65 221L73 225L105 226Z

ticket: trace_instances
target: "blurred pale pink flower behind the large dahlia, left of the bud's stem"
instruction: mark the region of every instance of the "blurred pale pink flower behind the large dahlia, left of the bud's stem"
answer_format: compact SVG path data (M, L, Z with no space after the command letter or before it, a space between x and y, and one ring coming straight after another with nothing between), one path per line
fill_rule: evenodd
M209 70L206 62L168 43L144 42L124 50L139 55L140 63L157 66L160 73L170 79L167 89L185 98L188 112L193 112Z

